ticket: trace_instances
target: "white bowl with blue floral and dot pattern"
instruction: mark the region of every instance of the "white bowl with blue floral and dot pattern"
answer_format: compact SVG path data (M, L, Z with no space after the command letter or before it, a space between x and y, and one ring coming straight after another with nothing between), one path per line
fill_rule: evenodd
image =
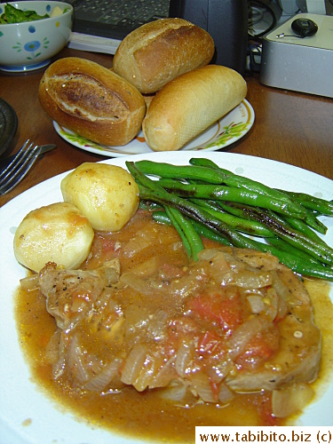
M73 7L63 2L8 2L22 11L51 15L58 6L63 13L41 20L0 24L0 69L24 72L47 66L66 46L73 27ZM0 16L5 4L0 4Z

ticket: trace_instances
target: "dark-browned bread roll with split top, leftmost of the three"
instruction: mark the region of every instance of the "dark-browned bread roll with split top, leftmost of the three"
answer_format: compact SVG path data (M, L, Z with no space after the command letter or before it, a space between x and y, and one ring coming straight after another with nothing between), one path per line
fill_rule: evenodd
M123 146L141 129L140 92L110 69L86 59L59 59L46 69L38 97L60 125L93 142Z

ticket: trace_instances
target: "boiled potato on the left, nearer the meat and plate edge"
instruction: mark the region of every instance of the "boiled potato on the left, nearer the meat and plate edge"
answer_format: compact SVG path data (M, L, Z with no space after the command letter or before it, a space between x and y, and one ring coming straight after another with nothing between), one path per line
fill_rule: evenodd
M30 211L14 236L14 255L38 273L48 262L74 269L91 250L94 232L88 218L67 202Z

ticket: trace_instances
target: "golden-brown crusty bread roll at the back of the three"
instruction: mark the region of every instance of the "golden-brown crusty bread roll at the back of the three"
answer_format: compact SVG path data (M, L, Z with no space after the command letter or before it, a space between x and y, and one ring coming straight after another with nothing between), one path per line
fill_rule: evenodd
M161 19L126 36L115 52L113 67L146 94L207 65L214 51L213 39L204 29L183 19Z

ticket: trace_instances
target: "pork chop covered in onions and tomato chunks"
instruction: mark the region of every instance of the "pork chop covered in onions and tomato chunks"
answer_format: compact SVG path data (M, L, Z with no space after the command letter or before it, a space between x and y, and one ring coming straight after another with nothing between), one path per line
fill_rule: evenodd
M146 273L122 274L116 260L41 271L39 289L61 331L52 363L73 385L141 392L176 383L219 402L226 387L272 391L315 379L321 333L311 300L277 258L221 247L186 266L155 260Z

